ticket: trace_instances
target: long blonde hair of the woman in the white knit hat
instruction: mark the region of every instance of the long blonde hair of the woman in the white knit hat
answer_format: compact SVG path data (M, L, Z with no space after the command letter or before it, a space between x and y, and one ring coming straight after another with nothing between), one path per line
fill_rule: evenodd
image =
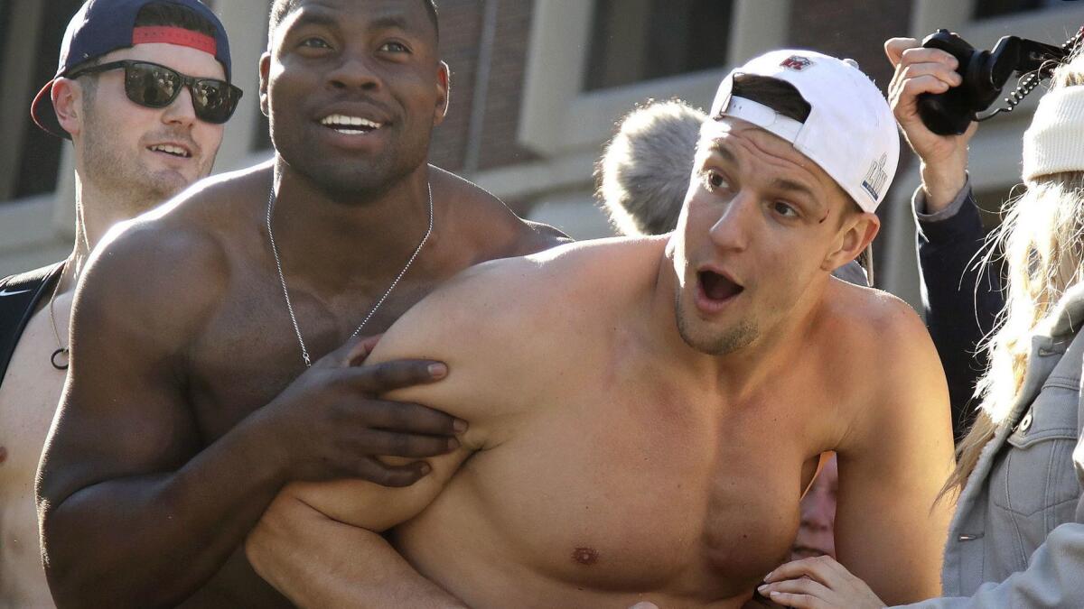
M1050 79L1051 90L1081 85L1084 54L1059 66ZM1024 185L1024 193L1007 203L1005 220L990 237L983 268L989 272L994 252L1004 251L1005 309L983 346L990 366L976 388L979 415L956 450L956 469L942 496L963 490L982 449L1009 425L1028 368L1031 337L1048 329L1058 300L1084 281L1084 171L1040 176Z

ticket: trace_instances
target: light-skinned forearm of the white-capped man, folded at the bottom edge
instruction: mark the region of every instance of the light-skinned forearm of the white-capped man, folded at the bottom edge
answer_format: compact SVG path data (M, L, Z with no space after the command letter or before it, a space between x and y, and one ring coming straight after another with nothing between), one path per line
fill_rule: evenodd
M465 607L379 534L280 495L248 536L256 571L298 607Z

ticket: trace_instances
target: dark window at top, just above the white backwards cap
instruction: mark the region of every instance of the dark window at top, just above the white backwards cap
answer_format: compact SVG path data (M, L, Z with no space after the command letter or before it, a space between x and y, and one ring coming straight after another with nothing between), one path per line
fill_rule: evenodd
M597 0L583 89L726 64L732 0Z

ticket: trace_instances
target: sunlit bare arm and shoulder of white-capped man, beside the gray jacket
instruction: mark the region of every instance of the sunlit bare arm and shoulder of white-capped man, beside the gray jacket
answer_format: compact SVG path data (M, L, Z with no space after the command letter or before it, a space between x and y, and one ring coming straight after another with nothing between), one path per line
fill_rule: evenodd
M939 589L950 506L934 500L953 461L949 390L926 327L906 302L842 287L834 304L841 323L829 340L846 350L849 370L828 381L846 397L835 446L836 552L894 606Z

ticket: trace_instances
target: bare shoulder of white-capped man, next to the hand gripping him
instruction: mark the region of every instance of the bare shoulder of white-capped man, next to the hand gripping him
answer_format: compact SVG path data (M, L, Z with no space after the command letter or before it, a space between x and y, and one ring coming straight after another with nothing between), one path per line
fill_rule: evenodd
M403 314L372 362L426 358L448 377L397 393L473 422L533 407L577 345L620 319L655 281L663 242L603 239L492 260L462 272ZM531 384L538 384L532 386Z

